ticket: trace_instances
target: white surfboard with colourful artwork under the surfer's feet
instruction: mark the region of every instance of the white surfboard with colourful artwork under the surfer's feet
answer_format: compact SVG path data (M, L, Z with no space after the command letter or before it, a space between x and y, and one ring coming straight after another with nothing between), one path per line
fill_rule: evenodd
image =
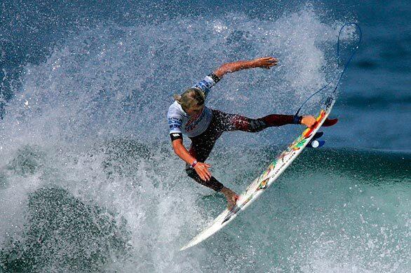
M225 225L233 221L241 211L247 208L257 199L257 197L264 193L264 190L276 181L278 176L280 176L284 170L287 169L291 162L297 158L299 153L302 152L305 146L309 144L309 141L311 141L318 129L320 129L321 125L323 125L325 119L330 114L334 103L335 99L328 97L327 102L325 103L325 109L321 109L318 117L316 118L316 124L311 128L306 128L306 130L304 130L304 132L302 132L302 134L300 134L299 137L297 137L297 139L295 139L295 141L293 141L292 144L290 144L287 149L283 151L283 153L278 155L278 157L271 162L269 167L267 167L261 176L257 177L257 179L255 179L240 195L236 206L234 206L231 210L224 210L222 214L217 216L217 218L215 218L215 220L208 225L208 228L205 228L205 230L189 241L189 243L183 246L180 251L190 248L191 246L195 246L215 234L215 232L224 228Z

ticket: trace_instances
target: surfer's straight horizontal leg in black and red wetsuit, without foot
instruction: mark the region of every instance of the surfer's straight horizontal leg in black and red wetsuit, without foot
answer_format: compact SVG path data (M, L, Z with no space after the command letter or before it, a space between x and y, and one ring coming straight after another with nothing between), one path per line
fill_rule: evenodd
M269 115L263 118L247 118L240 115L227 114L226 131L240 130L244 132L260 132L267 127L293 124L292 115Z

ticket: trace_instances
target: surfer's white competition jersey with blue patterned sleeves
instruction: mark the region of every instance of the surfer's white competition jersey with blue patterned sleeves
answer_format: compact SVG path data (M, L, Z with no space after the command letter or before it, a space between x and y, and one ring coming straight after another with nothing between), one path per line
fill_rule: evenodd
M211 76L205 76L201 82L194 85L196 88L203 90L205 97L207 97L210 88L215 85L215 80ZM167 118L170 127L170 134L183 133L187 137L196 137L203 133L208 125L210 125L213 113L210 109L204 106L203 111L197 115L190 117L175 101L168 109Z

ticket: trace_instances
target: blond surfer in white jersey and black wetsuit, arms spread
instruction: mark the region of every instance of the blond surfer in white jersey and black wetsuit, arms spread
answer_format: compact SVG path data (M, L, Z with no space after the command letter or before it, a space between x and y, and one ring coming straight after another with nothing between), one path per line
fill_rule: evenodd
M260 132L267 127L286 124L302 124L311 127L316 123L314 116L292 116L272 114L263 118L247 118L237 114L224 113L205 106L205 98L213 87L227 73L243 69L270 69L278 60L274 57L262 57L249 61L230 62L222 64L210 75L187 89L182 94L175 94L175 102L168 109L168 125L175 154L186 162L186 172L191 179L222 193L231 209L236 204L238 195L233 190L217 181L210 172L211 165L205 163L210 155L215 141L223 132L244 131ZM182 142L182 134L191 140L187 151Z

